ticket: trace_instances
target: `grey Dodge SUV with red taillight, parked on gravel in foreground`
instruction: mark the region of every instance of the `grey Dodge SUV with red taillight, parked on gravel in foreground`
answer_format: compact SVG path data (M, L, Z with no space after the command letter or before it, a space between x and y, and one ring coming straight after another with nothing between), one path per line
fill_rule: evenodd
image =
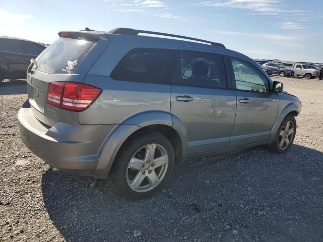
M32 60L19 132L52 168L99 178L114 170L120 192L141 199L181 158L290 148L301 102L252 59L219 43L139 33L168 35L64 31Z

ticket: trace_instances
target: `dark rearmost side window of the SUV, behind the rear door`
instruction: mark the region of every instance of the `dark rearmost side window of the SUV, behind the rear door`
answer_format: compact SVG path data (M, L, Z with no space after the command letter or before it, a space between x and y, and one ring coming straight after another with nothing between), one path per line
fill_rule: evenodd
M111 73L120 81L171 84L177 50L136 48L130 50Z

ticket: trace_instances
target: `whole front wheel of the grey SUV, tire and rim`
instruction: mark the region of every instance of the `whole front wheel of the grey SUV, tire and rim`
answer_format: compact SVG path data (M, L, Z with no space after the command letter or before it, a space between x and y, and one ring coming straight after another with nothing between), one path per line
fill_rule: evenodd
M296 120L291 114L287 115L276 134L275 140L268 146L268 150L276 153L286 153L293 144L296 135Z

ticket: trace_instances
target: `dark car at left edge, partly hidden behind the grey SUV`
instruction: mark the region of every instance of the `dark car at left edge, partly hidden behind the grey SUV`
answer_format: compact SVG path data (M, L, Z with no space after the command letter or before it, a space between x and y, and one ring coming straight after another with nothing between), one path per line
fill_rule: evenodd
M26 39L0 36L0 82L4 79L26 79L30 59L46 46Z

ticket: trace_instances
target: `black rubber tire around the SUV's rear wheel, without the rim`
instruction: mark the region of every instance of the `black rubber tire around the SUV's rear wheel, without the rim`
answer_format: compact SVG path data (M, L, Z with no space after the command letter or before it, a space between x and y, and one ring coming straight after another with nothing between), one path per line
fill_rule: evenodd
M128 165L134 155L138 153L138 150L149 144L160 145L166 150L168 155L168 166L163 178L161 178L155 187L151 188L151 190L147 192L136 192L128 184ZM154 193L158 192L164 187L172 174L175 162L175 154L172 143L165 136L159 133L149 133L146 135L141 134L129 140L126 145L122 147L122 149L123 150L120 152L120 155L118 155L116 160L117 163L115 167L115 171L117 173L117 187L122 195L132 200L139 200L152 196ZM152 169L152 172L155 172L151 167L149 169ZM142 181L142 183L144 182L145 180Z

